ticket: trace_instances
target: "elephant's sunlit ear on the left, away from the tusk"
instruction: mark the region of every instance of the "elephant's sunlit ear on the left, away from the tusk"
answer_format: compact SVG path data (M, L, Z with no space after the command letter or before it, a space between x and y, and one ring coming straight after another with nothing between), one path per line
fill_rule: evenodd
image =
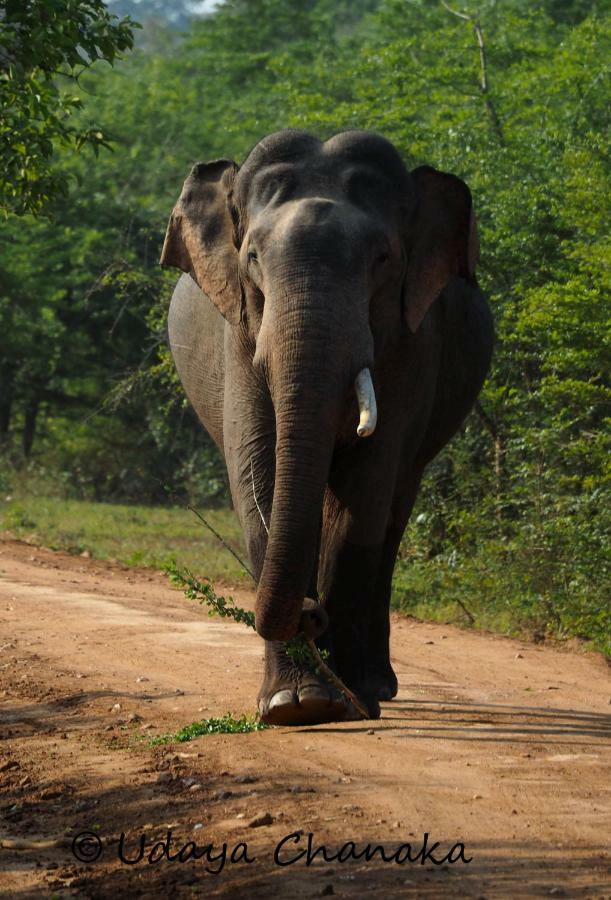
M170 216L160 263L188 272L219 311L237 325L242 317L238 251L229 195L234 162L197 163Z

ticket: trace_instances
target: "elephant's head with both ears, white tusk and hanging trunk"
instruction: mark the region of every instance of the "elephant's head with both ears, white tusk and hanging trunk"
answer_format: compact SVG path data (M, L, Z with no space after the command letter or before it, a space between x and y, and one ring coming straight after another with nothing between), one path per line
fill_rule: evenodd
M376 439L377 355L401 329L418 330L451 278L473 278L476 245L466 185L428 167L409 173L367 132L325 143L279 132L241 168L200 163L185 181L161 262L189 272L241 330L275 409L264 638L298 628L334 448Z

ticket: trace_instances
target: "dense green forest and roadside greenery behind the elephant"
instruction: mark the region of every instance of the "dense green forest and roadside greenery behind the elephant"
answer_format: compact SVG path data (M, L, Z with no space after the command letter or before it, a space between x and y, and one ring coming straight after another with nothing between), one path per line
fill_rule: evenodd
M610 651L605 6L109 2L135 29L101 0L2 0L0 527L104 555L83 536L95 508L106 537L138 523L180 561L202 540L192 504L237 539L166 345L168 215L195 161L240 162L284 127L373 129L469 184L497 334L427 472L395 606Z

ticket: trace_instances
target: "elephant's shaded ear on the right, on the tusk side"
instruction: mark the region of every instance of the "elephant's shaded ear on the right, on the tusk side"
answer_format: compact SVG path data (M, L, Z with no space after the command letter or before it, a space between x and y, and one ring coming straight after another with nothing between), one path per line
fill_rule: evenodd
M479 246L471 192L464 181L430 166L414 169L411 176L416 206L405 231L403 316L417 331L452 278L474 280Z

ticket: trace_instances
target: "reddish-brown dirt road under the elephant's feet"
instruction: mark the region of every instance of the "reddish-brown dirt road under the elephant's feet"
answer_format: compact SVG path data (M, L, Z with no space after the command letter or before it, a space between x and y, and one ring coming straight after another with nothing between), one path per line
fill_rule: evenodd
M0 894L611 897L604 661L400 617L392 647L379 722L152 746L252 712L260 640L158 573L0 543ZM148 862L168 828L170 855L214 850ZM331 859L348 841L387 861Z

